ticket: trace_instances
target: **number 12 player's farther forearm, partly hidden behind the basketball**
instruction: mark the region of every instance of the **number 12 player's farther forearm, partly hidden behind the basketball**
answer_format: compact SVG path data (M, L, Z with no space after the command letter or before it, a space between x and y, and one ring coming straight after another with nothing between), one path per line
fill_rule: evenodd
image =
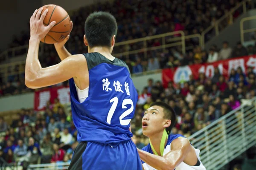
M73 28L73 22L71 21L71 30L72 30L72 28ZM68 35L63 41L54 44L55 49L56 49L61 61L67 57L72 56L70 54L70 52L67 51L67 48L65 47L65 44L66 44L67 40L69 40L69 38L70 38L70 35Z

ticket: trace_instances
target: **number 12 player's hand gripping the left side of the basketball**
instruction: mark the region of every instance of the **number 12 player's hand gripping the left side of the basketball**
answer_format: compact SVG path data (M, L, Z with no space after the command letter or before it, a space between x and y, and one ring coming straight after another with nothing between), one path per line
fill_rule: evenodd
M43 8L36 9L32 17L30 17L30 38L36 38L41 40L46 36L49 30L55 25L55 21L52 21L48 26L44 25L44 18L48 12L48 9L41 14Z

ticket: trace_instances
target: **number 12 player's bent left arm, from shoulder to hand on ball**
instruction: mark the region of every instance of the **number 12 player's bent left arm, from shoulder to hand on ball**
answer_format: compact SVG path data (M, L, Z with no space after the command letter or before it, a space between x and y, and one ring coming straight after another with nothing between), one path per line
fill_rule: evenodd
M48 10L41 14L43 8L35 10L30 18L30 40L29 50L26 58L25 84L29 88L41 88L49 85L64 82L72 77L80 77L83 74L83 67L87 67L86 59L83 55L67 57L57 65L42 68L38 51L40 40L46 36L49 30L55 25L55 21L48 26L44 26L43 21Z

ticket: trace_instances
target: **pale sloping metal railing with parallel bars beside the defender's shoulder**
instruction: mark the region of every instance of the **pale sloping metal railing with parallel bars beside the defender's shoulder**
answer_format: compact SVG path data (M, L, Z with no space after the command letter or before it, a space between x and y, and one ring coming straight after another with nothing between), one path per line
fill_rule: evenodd
M256 144L256 97L188 138L207 170L218 170Z

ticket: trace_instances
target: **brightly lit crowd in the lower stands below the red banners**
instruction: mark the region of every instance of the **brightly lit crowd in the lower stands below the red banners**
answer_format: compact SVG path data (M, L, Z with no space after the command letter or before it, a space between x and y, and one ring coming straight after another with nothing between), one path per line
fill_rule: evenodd
M138 148L148 144L148 138L142 134L141 120L151 102L168 103L177 114L172 133L188 137L238 108L242 99L252 99L256 91L255 80L253 68L248 68L247 73L243 73L241 68L233 69L228 79L215 68L212 79L204 74L200 74L199 79L190 76L190 80L183 84L169 82L166 89L161 82L149 79L131 121L134 142ZM0 162L37 164L70 161L78 144L77 131L72 112L65 113L58 99L54 104L48 102L43 112L22 109L18 115L10 124L0 118Z

